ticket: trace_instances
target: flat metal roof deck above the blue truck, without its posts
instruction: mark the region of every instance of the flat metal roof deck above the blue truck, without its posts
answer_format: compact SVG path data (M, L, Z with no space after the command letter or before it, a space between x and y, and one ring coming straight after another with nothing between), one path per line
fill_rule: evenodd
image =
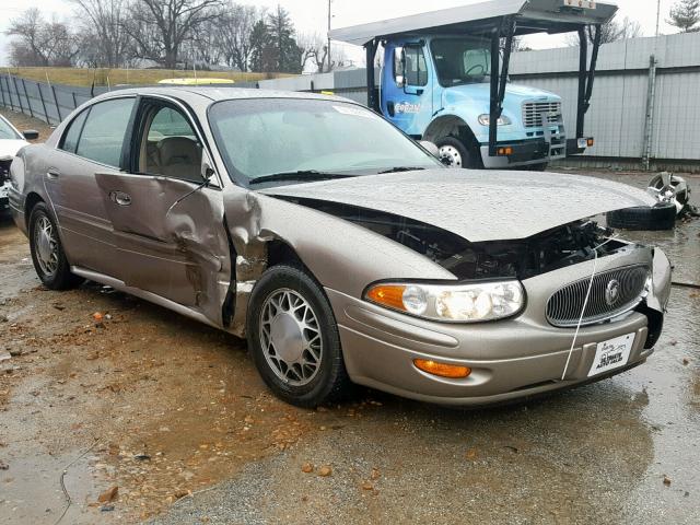
M580 7L581 5L581 7ZM490 33L514 18L514 36L570 33L581 26L604 24L617 5L592 0L490 0L428 13L334 30L334 40L364 46L373 39L402 35ZM503 32L500 36L508 36Z

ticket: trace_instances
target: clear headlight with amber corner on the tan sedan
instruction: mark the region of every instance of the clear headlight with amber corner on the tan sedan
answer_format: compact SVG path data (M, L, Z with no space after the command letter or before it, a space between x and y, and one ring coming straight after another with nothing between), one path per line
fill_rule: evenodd
M517 314L525 304L520 281L471 284L378 283L364 299L432 320L478 323Z

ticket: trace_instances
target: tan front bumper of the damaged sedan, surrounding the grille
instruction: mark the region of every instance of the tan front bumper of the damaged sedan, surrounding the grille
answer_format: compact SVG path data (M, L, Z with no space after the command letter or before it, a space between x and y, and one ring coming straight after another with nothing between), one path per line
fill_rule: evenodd
M665 270L669 265L661 252L657 254L661 257L654 257L654 266L664 268L654 270L663 276L664 282L657 283L655 290L665 293L670 277ZM540 315L542 306L533 303L548 296L538 290L544 281L563 283L567 281L559 279L573 271L575 267L551 272L561 272L557 277L539 276L529 288L524 281L530 304L521 316L472 325L423 320L335 290L326 289L326 293L336 314L346 368L353 382L423 401L489 405L614 375L642 363L653 352L652 348L645 348L651 347L646 345L648 316L629 312L612 322L581 328L562 380L575 329L549 325ZM654 290L650 294L646 304L655 299ZM661 302L665 305L665 299ZM597 343L627 334L634 335L627 363L610 373L588 376ZM471 374L462 380L439 377L418 370L415 359L468 366Z

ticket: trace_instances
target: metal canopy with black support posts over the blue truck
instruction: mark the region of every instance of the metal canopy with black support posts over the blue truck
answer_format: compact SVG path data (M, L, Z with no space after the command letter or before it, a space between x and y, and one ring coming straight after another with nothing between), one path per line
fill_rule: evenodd
M576 138L567 141L567 153L576 154L585 150L581 147L581 140L586 143L592 143L593 140L585 139L583 131L585 114L593 94L595 67L600 47L600 26L615 16L617 9L612 3L594 0L491 0L335 30L329 33L329 37L364 46L368 63L368 105L377 112L380 108L372 65L380 44L406 36L470 34L488 37L491 40L489 155L497 156L499 145L503 145L498 142L498 119L503 112L513 38L535 33L576 32L580 40ZM587 27L595 28L592 32L590 67ZM503 46L501 39L504 39ZM501 49L503 55L499 60Z

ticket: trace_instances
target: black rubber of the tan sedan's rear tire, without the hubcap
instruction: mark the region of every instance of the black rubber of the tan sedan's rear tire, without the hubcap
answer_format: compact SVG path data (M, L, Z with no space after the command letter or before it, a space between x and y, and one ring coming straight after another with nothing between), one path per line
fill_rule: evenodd
M39 262L39 254L37 246L37 228L39 228L40 222L48 221L52 229L52 235L55 240L55 248L56 248L56 262L54 271L46 271L46 269ZM32 252L32 262L34 262L34 269L36 270L36 275L44 283L46 288L49 290L69 290L71 288L75 288L83 282L84 279L81 277L71 273L70 265L68 264L68 259L66 258L66 253L63 252L63 246L61 244L60 236L58 234L58 228L56 225L56 221L51 213L48 210L48 207L44 202L38 202L34 208L32 208L32 212L30 214L30 248Z

